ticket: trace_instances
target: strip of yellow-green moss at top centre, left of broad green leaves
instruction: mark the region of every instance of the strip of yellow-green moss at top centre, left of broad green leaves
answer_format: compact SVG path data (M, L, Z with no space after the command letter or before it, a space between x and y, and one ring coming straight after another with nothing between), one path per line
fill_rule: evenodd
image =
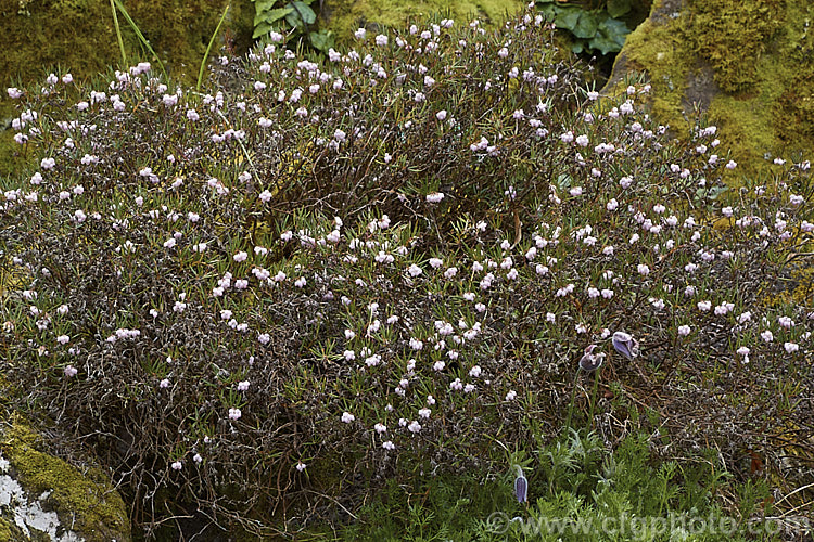
M333 0L327 2L322 15L326 27L342 40L364 25L402 26L411 18L420 22L436 13L448 13L457 24L474 17L497 24L522 7L519 0Z

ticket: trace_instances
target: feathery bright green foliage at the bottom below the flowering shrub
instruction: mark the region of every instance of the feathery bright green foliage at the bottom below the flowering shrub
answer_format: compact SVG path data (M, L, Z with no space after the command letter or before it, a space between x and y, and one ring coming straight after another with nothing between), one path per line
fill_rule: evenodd
M523 462L530 492L512 494L513 473L486 481L438 476L389 480L373 503L336 532L314 540L792 540L801 517L772 522L772 506L755 514L767 486L735 482L714 450L692 461L653 456L662 438L629 435L610 451L595 433L563 434ZM517 457L507 457L512 461ZM733 515L722 507L730 506ZM625 519L626 518L626 519Z

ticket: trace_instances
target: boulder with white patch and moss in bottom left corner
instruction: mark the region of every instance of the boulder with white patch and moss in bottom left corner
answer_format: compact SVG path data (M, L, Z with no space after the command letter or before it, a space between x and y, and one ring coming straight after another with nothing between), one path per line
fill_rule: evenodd
M49 454L11 417L0 428L0 542L131 540L127 507L104 473Z

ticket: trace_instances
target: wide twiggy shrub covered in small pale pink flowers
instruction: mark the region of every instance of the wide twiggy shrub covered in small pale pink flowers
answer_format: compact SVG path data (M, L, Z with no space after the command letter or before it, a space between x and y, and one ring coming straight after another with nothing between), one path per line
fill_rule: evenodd
M714 127L671 140L649 85L582 88L550 31L360 29L319 61L272 36L202 93L148 64L9 89L37 165L0 199L21 404L92 447L142 525L254 532L297 495L488 467L571 397L575 423L649 404L730 459L790 420L811 435L814 307L772 304L814 228L809 163L724 199Z

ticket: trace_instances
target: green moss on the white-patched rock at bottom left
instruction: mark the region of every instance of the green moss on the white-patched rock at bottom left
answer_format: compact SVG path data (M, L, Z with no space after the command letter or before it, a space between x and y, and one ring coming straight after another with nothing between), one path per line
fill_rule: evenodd
M130 540L127 507L105 475L92 468L82 475L39 446L37 434L18 415L0 439L0 450L24 487L34 493L52 491L48 502L63 525L73 525L88 542Z

